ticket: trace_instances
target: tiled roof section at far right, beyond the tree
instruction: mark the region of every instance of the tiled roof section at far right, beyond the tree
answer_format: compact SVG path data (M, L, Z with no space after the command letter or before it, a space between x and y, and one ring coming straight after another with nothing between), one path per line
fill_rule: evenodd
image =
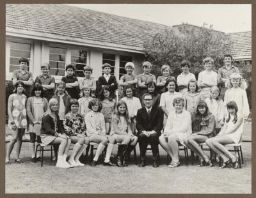
M234 59L252 59L252 32L228 33L227 47Z

